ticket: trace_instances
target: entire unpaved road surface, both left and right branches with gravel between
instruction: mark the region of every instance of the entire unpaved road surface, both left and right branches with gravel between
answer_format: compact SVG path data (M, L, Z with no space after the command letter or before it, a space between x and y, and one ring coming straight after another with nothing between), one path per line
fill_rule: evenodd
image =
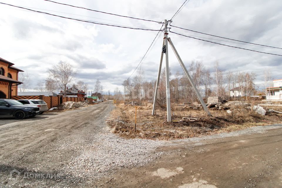
M105 124L113 108L0 119L0 187L282 187L281 125L126 140Z

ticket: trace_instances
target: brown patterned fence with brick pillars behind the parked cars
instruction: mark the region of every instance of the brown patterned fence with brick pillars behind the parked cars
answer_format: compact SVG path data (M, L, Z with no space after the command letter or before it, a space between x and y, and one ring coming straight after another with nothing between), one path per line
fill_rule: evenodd
M56 107L64 102L73 101L80 102L84 100L84 97L64 97L63 95L57 95L54 97L53 95L44 96L44 95L33 95L33 96L12 96L11 99L20 100L20 99L40 99L44 100L47 103L48 108ZM92 98L87 98L89 103L93 103Z

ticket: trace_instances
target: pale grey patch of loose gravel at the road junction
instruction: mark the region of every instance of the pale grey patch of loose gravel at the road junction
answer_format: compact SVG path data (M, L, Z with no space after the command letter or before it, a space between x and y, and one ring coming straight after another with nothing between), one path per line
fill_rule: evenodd
M155 152L165 142L153 140L125 140L112 133L100 133L78 157L63 168L63 174L85 180L98 179L117 169L142 166L163 152Z

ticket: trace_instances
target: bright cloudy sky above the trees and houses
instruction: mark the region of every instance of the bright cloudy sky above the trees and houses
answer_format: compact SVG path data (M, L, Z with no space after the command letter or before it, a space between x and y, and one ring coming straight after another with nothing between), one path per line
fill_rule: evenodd
M161 27L158 23L110 16L43 0L1 0L1 2L77 19L150 29ZM58 2L114 14L164 21L173 16L184 0L60 0ZM75 67L77 76L73 80L74 83L81 80L88 83L89 89L94 89L95 80L98 78L104 86L104 91L113 92L116 87L122 89L121 83L131 75L157 34L157 31L73 21L3 4L0 4L0 14L0 57L28 72L33 85L31 89L35 88L38 81L45 80L48 76L47 70L59 61L67 61ZM173 19L172 25L282 48L281 20L282 1L190 0ZM186 35L215 38L177 28L171 30ZM169 37L186 66L189 66L194 59L203 61L206 68L213 70L214 61L218 60L220 68L224 71L256 73L258 84L263 80L263 71L268 68L272 72L273 79L282 79L281 56L230 48L174 33L170 33ZM162 38L162 36L158 38L141 64L147 80L156 79ZM281 49L215 42L282 54ZM172 74L177 70L181 71L170 47L168 51Z

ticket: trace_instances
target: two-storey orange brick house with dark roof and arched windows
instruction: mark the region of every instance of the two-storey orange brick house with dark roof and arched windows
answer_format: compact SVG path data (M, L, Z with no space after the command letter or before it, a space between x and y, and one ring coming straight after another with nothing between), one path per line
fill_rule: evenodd
M18 81L19 72L24 72L5 59L0 58L0 98L11 98L18 94L18 85L22 82Z

